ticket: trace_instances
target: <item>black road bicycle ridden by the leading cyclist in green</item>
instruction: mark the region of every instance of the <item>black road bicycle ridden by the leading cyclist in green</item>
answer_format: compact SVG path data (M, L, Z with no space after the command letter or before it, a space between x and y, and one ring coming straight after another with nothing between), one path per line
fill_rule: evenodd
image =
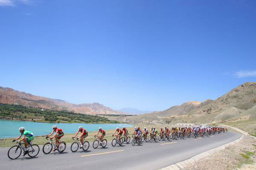
M25 149L25 146L23 146L24 143L17 142L17 145L11 147L8 150L8 157L9 159L17 159L21 155L21 150L23 150L23 156L28 154L30 157L35 157L39 153L39 146L37 144L32 144L32 142L29 142L28 150Z

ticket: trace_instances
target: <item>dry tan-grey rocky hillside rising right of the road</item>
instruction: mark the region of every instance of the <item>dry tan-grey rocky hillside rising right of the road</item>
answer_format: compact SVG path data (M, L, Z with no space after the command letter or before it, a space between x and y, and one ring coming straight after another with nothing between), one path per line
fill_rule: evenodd
M216 100L186 102L165 111L116 119L126 122L225 123L256 122L256 82L246 82Z

